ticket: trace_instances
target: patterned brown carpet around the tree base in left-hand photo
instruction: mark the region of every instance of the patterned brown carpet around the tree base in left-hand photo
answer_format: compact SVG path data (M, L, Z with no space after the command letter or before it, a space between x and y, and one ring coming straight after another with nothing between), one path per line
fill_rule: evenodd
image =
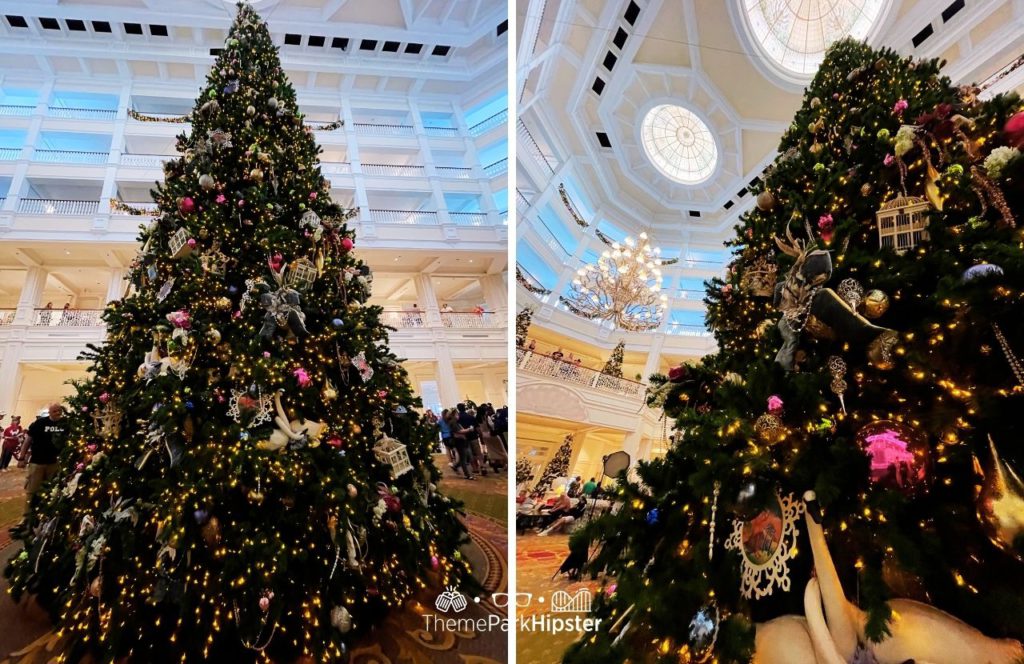
M466 503L465 520L470 543L464 554L473 565L485 592L479 603L471 601L459 618L507 617L507 609L490 599L492 592L508 587L507 520L498 520L497 495L506 495L503 478L476 482L451 480L445 473L440 489L450 485ZM0 569L16 552L9 546L8 528L20 518L24 506L24 470L0 473ZM487 513L489 512L489 513ZM6 522L6 523L4 523ZM6 590L6 580L0 578ZM374 633L352 649L353 664L500 664L508 661L507 634L501 628L476 631L426 629L429 616L445 617L434 609L440 589L428 589L411 600L404 611L393 612ZM60 642L43 612L31 599L15 605L3 592L0 596L0 664L49 664L56 662ZM527 661L527 660L520 660Z

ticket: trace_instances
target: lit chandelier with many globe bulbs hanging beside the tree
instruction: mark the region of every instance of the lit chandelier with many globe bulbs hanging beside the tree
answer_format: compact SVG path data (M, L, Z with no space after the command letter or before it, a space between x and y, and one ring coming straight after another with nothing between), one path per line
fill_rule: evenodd
M662 253L652 248L647 234L639 242L626 238L611 243L597 259L577 271L566 308L586 319L610 321L623 330L653 330L662 324L668 297L662 291Z

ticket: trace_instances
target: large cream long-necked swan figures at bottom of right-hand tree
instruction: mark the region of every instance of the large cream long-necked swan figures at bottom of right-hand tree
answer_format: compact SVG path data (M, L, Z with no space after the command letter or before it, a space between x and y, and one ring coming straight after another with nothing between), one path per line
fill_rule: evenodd
M1013 664L1024 647L991 638L949 614L912 599L892 599L891 634L877 644L864 635L864 612L846 598L833 563L813 491L804 494L807 534L816 578L804 592L805 616L758 625L756 664L845 664L866 646L879 664ZM823 612L822 612L823 608Z

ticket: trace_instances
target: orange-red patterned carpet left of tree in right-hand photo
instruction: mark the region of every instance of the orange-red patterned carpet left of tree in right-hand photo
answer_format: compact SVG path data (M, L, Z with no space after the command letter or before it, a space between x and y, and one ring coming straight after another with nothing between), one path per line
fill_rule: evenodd
M521 607L518 615L526 618L551 612L552 595L564 590L577 596L581 589L599 592L600 581L569 581L564 575L555 576L568 554L568 536L522 535L516 538L516 591L529 593L529 606ZM553 578L554 577L554 578ZM552 614L554 615L554 614ZM550 633L525 631L516 633L516 661L529 664L556 664L562 653L582 632Z

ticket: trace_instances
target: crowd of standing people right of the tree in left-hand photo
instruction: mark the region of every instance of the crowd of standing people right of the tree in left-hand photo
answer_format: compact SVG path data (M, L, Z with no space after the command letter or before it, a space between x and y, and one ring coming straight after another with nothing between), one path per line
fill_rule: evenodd
M437 420L441 445L449 465L467 480L487 474L487 467L500 473L508 466L509 409L490 404L473 408L459 404L441 411Z

